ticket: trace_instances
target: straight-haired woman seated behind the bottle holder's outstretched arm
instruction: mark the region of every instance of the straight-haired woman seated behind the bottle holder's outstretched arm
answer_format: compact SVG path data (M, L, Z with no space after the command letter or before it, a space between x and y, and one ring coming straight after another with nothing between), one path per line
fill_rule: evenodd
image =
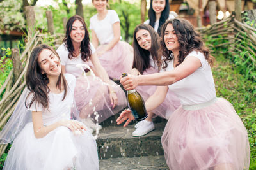
M161 69L161 54L159 53L160 41L159 36L154 29L147 24L140 24L134 30L133 48L134 61L132 66L132 74L147 75L158 73ZM146 101L157 88L168 90L167 86L157 87L155 85L138 86L136 90L140 92L143 99ZM147 103L147 102L146 102ZM154 130L152 117L154 115L168 119L170 114L180 106L180 101L173 94L168 92L164 99L155 110L148 112L147 119L138 122L135 125L136 130L132 133L133 136L143 136Z

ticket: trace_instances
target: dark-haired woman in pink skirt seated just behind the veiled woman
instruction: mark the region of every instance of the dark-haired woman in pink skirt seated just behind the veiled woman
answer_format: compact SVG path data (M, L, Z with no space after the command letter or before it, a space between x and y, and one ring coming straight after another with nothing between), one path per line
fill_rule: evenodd
M68 19L66 35L57 52L63 73L73 74L77 78L74 95L80 113L74 116L93 130L101 129L98 123L118 113L127 104L124 91L109 80L106 70L95 55L95 48L90 43L82 17L74 15ZM85 76L83 69L91 69L90 75Z

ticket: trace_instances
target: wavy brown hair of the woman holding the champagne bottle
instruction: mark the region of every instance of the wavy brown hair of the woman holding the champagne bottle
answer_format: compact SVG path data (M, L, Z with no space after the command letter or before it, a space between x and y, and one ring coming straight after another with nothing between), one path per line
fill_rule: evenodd
M202 38L200 38L198 32L195 31L193 25L191 25L188 20L175 18L172 20L168 20L163 25L161 30L161 47L163 48L162 51L164 56L163 68L167 67L168 60L173 59L172 51L168 50L164 43L164 31L166 30L168 24L173 25L173 29L175 30L180 45L178 55L179 62L176 66L179 66L179 64L184 61L185 57L193 50L195 50L196 52L202 52L209 65L213 66L214 57L210 55L209 49L204 46Z

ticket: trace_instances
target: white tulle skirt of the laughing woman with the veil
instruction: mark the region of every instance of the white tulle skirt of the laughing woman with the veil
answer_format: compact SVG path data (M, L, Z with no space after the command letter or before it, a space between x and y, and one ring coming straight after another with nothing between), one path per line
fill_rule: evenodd
M99 169L97 144L90 132L75 135L67 127L58 127L44 138L35 138L31 122L13 141L3 169Z

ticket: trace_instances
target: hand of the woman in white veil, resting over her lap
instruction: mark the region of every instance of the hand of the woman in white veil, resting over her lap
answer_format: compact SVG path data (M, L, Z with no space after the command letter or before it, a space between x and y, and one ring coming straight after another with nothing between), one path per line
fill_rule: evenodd
M68 127L72 132L79 131L83 133L83 130L86 131L86 127L81 123L76 120L68 120L68 119L63 119L61 120L61 125Z

